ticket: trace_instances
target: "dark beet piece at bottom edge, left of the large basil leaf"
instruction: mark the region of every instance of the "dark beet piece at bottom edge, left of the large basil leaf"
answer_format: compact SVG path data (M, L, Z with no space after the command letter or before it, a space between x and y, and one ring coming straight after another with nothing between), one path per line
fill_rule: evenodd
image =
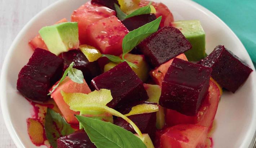
M96 148L84 129L70 135L58 138L58 148Z

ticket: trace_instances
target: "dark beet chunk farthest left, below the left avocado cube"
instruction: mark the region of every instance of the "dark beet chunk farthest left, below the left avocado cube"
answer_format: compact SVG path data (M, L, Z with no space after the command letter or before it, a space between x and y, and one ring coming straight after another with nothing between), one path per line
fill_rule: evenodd
M37 48L18 75L17 90L32 101L50 99L49 89L62 76L63 60L55 54Z

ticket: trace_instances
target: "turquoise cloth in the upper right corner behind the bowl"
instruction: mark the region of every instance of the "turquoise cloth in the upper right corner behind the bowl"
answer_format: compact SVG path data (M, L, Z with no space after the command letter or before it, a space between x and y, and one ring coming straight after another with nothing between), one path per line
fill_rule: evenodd
M194 0L219 16L242 41L256 67L256 0Z

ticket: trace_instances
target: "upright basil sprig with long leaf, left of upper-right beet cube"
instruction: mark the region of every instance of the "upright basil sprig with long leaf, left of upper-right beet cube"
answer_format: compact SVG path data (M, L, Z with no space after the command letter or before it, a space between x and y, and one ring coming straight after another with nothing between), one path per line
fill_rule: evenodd
M122 58L118 56L113 56L110 54L102 54L102 57L107 57L110 61L116 62L116 63L125 61L131 67L138 68L134 63L131 63L125 60L124 56L126 53L130 52L134 47L136 47L142 40L149 37L149 35L155 33L159 28L161 19L162 19L162 16L126 34L125 37L123 38L123 43L122 43L122 48L123 48Z

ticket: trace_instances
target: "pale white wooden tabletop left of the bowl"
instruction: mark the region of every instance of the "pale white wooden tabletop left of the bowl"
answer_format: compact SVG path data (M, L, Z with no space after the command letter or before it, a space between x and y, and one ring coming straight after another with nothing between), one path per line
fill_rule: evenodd
M0 0L0 72L12 41L39 11L57 0ZM22 47L21 47L22 48ZM0 110L0 148L16 148Z

